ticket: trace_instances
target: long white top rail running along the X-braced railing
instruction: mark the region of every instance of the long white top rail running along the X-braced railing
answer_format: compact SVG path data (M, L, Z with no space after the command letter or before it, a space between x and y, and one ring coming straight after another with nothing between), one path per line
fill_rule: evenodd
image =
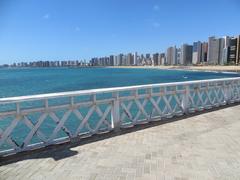
M8 98L0 98L0 104L10 104L10 103L18 103L18 102L24 102L24 101L37 101L37 100L43 100L43 99L74 97L74 96L80 96L80 95L92 95L92 94L111 93L111 92L114 93L114 92L121 92L121 91L135 90L135 89L148 89L148 88L168 87L168 86L176 86L176 85L178 86L194 85L194 84L200 84L200 83L225 82L225 81L234 81L234 80L240 80L240 77L184 81L184 82L171 82L171 83L158 83L158 84L136 85L136 86L126 86L126 87L100 88L100 89L91 89L91 90L8 97Z

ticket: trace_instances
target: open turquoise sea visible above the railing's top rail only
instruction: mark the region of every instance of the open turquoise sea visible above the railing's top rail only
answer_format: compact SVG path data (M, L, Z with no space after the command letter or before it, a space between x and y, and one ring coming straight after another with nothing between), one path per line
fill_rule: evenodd
M239 76L234 73L129 68L0 69L0 98Z

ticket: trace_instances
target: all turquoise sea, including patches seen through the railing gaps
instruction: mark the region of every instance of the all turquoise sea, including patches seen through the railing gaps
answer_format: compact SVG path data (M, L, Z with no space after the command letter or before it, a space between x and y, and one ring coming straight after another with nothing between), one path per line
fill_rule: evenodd
M119 87L129 85L141 85L141 84L153 84L153 83L166 83L177 81L189 81L189 80L201 80L201 79L215 79L215 78L228 78L228 77L240 77L240 74L236 73L214 73L214 72L193 72L193 71L180 71L180 70L159 70L159 69L128 69L128 68L35 68L35 69L0 69L0 98L11 96L32 95L41 93L53 93L62 91L73 91L81 89L93 89L93 88L107 88L107 87ZM140 91L139 91L140 92ZM129 92L124 92L129 93ZM142 92L144 93L144 92ZM106 94L112 96L112 94ZM102 94L97 98L102 98ZM166 96L167 97L167 96ZM203 95L203 98L206 95ZM84 101L83 98L91 97L76 97L74 102ZM88 99L89 100L89 99ZM157 97L154 97L157 101ZM144 99L139 100L143 104ZM196 99L197 101L197 99ZM56 100L49 100L49 106L58 104L69 103L69 98L58 98ZM130 101L123 102L125 106L128 106ZM174 107L176 101L172 99L170 105ZM28 107L36 108L37 106L43 107L44 101L40 102L24 102L20 104L21 109ZM108 104L98 105L102 112L105 112ZM159 108L162 110L166 107L164 101L159 102ZM83 117L86 117L89 107L80 107L78 110ZM15 104L0 105L0 112L15 110ZM148 101L144 106L146 113L151 117L159 116L154 111L153 105ZM66 113L65 110L56 110L55 115L61 119ZM119 109L121 117L124 116L125 111L122 107ZM132 118L138 117L137 120L144 119L146 117L143 114L139 116L139 108L133 103L129 110ZM181 111L180 107L177 107L176 111ZM167 114L168 111L165 112ZM40 112L30 113L27 118L35 126L38 123L39 117L42 115ZM125 114L123 119L124 123L131 123L132 118ZM5 131L13 122L15 116L0 117L0 132ZM91 129L95 129L101 117L96 113L90 116L88 123ZM111 124L111 113L108 113L106 120ZM80 121L74 113L71 113L64 126L69 130L71 134L76 132L79 127ZM42 132L46 139L51 137L52 132L56 128L56 123L49 115L41 123L38 131ZM102 124L102 129L107 129L106 124ZM11 132L11 140L19 147L24 145L24 140L30 133L31 128L27 127L24 120L18 121L16 127ZM91 131L87 126L84 126L81 133L87 133ZM5 131L6 132L6 131ZM58 132L56 138L66 137L67 133L62 129ZM30 144L42 142L43 139L39 139L37 134L34 134L30 141ZM0 152L3 150L11 149L12 146L9 142L4 142L0 145Z

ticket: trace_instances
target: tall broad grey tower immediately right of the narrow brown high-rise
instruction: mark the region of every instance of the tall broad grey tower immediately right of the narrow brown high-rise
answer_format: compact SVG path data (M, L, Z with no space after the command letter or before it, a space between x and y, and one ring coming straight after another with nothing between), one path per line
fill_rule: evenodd
M208 64L219 64L220 40L215 37L208 38Z

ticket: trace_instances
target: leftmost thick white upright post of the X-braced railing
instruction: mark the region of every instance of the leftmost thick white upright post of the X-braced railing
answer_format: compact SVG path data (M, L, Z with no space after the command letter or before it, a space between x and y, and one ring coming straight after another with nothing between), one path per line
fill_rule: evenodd
M111 120L112 120L112 128L114 131L118 132L120 131L120 101L119 101L119 93L114 92L113 93L113 108L111 113Z

